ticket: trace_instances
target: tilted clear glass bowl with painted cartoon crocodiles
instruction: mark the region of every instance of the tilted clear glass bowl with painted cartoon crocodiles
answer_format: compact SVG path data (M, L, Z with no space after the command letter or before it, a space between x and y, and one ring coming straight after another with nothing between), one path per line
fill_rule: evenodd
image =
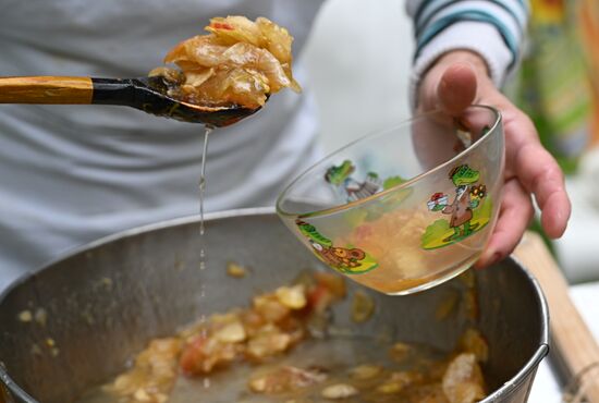
M277 212L321 261L386 294L418 292L469 268L497 221L501 114L435 111L353 142L279 196Z

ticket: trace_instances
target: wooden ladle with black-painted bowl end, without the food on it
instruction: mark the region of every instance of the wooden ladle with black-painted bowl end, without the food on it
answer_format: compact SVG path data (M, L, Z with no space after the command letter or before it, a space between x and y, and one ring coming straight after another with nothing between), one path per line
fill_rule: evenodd
M0 77L0 103L118 105L158 117L223 127L249 117L260 108L205 107L167 95L164 77Z

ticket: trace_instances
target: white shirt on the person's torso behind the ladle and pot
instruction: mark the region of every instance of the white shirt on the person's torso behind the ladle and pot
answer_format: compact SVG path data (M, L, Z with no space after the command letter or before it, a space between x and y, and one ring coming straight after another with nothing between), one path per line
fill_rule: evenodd
M297 57L320 4L4 0L0 75L144 76L176 42L204 33L211 16L230 14L286 27ZM310 91L301 66L294 71L303 95L283 90L256 117L212 134L207 211L271 205L315 161ZM197 213L201 146L200 125L131 108L0 106L0 290L91 240Z

